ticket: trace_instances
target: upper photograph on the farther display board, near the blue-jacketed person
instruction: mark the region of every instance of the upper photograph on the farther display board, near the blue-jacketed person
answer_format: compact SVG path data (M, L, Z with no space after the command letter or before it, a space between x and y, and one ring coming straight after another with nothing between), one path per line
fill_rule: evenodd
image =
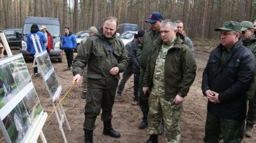
M46 75L53 67L47 52L43 52L40 56L36 56L36 63L40 66L43 75Z

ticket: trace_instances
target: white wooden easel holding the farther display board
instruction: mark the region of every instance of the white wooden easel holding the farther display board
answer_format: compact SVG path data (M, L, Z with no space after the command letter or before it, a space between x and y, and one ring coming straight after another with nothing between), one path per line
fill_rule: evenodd
M39 52L38 52L38 49L37 49L37 46L36 46L35 39L36 39L36 41L37 41L37 43L38 43L38 46L39 46L39 49L40 49L40 51L41 51L41 53L42 53L43 50L42 50L42 47L41 47L41 45L40 45L40 41L39 41L38 35L35 35L35 36L34 36L33 34L31 34L31 39L32 39L32 41L33 41L33 45L34 45L35 50L36 50L36 55L39 54ZM33 66L32 66L32 67L37 66L38 69L40 69L40 66L38 66L38 64L35 64L35 62L36 62L36 57L34 58ZM53 72L54 72L54 71L53 71ZM41 72L41 73L42 73L42 72ZM45 86L47 87L46 82L45 82ZM48 87L47 87L47 89L48 89ZM56 93L55 93L54 95L51 94L51 92L50 92L49 89L48 89L48 91L49 91L49 94L50 94L50 96L51 96L52 107L55 108L55 107L56 107L55 102L57 102L56 100L60 98L61 86L58 87L58 89L57 89L57 91L56 91ZM63 123L66 123L66 124L67 124L69 131L71 131L71 128L70 128L70 125L69 125L68 120L67 120L67 116L66 116L66 114L65 114L65 112L64 112L64 110L63 110L63 107L62 107L61 103L60 103L60 106L59 106L59 107L57 108L57 110L55 111L55 115L56 115L56 118L57 118L57 121L58 121L58 124L59 124L59 128L60 128L61 134L62 134L62 136L63 136L63 140L64 140L65 143L67 143L67 138L66 138L65 132L64 132L64 130L63 130Z

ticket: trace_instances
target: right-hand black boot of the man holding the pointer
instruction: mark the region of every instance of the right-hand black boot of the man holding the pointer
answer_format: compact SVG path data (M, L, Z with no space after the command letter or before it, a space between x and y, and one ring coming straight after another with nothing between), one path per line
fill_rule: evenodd
M111 120L103 121L103 135L109 135L110 137L120 138L120 133L116 132L111 125Z

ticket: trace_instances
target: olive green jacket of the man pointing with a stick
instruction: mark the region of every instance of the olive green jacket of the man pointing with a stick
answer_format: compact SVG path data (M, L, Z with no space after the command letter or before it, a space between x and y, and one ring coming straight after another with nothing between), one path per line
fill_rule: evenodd
M115 35L112 38L106 38L102 34L101 28L95 36L88 38L74 59L73 75L81 75L86 65L88 65L87 77L92 79L106 79L106 77L113 76L109 70L116 66L119 68L119 72L124 72L129 62L128 52L124 43ZM111 45L115 56L106 48L102 40ZM119 74L115 77L120 79Z

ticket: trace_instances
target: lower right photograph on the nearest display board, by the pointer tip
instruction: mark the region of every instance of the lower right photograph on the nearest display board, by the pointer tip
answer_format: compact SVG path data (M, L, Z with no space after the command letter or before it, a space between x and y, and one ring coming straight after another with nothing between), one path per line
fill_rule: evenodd
M34 88L23 98L23 102L31 119L31 123L33 123L36 117L42 112L42 107Z

